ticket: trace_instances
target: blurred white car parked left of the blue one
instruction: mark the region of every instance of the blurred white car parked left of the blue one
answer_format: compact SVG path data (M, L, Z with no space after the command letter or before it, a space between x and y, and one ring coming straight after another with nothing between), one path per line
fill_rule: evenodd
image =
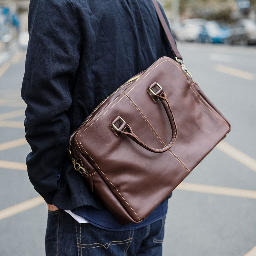
M180 41L195 42L204 26L204 19L183 20L179 28L175 30L175 36Z

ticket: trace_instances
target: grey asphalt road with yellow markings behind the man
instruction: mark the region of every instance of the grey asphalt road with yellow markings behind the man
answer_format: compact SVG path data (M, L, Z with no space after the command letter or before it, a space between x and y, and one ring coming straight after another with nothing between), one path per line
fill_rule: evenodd
M255 256L256 48L178 42L178 49L232 130L174 190L163 255ZM44 255L47 207L25 166L25 54L0 63L0 256Z

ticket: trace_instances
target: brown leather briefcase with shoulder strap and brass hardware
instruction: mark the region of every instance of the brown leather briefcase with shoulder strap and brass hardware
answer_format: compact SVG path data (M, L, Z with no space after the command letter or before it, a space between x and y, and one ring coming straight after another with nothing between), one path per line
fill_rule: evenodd
M145 219L230 131L185 69L153 2L177 61L162 57L132 77L69 143L75 169L123 224Z

